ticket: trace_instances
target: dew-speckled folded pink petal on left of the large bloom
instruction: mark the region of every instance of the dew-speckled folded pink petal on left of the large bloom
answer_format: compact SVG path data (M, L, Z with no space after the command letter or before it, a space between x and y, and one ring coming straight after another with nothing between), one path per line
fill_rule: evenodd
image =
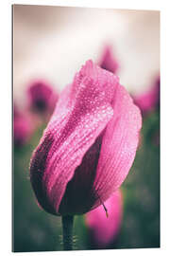
M67 183L112 118L110 101L117 86L117 77L88 61L61 93L30 164L31 183L44 210L59 213Z

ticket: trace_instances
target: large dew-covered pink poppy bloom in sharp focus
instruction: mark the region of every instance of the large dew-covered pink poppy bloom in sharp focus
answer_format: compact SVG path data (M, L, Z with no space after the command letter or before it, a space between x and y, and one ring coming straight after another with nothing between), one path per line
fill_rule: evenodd
M30 162L42 208L75 215L101 205L136 154L140 111L118 78L88 61L62 91Z

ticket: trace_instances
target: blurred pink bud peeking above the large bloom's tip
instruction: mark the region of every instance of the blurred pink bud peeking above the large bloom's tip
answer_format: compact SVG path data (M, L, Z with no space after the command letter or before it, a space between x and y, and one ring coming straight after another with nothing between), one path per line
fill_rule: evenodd
M111 46L106 46L104 48L102 57L101 57L98 65L100 65L100 67L102 67L114 74L116 73L116 71L119 68L119 64L117 63L115 57L112 54Z

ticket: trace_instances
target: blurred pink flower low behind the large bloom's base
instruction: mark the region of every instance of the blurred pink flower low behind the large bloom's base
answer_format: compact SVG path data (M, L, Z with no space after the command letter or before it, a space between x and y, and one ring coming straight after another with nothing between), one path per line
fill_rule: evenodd
M85 215L86 225L91 231L93 243L98 247L108 246L117 237L123 215L123 201L120 190L114 192L105 202L108 218L103 206Z

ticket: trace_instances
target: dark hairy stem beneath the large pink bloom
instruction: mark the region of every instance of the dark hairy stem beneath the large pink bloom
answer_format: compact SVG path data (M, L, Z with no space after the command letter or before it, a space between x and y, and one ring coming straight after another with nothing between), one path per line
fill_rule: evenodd
M62 216L63 249L72 250L74 216Z

